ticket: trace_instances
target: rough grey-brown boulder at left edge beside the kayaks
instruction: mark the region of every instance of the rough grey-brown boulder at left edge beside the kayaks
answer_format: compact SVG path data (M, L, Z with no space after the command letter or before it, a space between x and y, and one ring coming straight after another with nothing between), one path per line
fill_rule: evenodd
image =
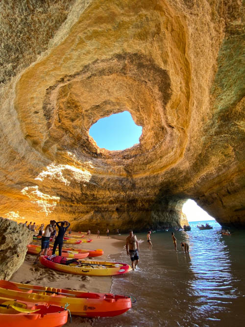
M8 280L20 268L32 237L24 225L0 217L0 279Z

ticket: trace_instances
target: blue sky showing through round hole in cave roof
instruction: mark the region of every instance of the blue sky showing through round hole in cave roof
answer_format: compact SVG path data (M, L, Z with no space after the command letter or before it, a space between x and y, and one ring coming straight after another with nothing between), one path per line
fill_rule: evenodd
M124 150L139 143L142 126L137 126L128 111L101 118L90 127L89 135L99 148Z

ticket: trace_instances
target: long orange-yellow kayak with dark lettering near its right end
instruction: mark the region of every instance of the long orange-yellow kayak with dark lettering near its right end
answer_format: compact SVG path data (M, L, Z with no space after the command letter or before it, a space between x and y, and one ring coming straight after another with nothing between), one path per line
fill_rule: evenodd
M7 280L0 280L0 296L34 303L42 301L58 306L69 303L71 313L82 317L114 317L131 308L131 299L123 295L79 292ZM15 327L17 326L19 325L16 324Z

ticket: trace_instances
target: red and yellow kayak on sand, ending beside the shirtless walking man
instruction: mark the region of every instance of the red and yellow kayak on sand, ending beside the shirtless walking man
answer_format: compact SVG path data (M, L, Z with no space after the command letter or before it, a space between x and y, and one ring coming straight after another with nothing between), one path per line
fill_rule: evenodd
M71 263L70 265L65 265L49 260L48 255L41 255L39 257L39 261L42 265L50 269L74 275L112 276L125 274L132 270L129 265L121 262L78 259L78 263Z

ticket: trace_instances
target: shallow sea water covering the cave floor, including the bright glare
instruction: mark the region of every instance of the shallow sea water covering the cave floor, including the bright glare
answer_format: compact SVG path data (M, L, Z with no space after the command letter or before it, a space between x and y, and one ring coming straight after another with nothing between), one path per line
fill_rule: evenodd
M202 222L206 223L206 222ZM121 316L96 319L93 326L232 326L245 325L245 231L231 236L217 234L221 226L209 221L210 230L151 234L152 251L146 233L136 234L140 263L135 272L113 277L111 292L134 296L132 309ZM119 236L123 244L127 235ZM190 245L182 252L181 241ZM113 261L130 262L125 248L111 255Z

